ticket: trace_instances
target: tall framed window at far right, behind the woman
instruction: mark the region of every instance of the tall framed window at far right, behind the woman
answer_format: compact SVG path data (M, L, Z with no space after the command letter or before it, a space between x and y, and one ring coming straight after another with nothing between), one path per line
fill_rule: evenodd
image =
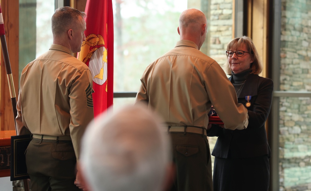
M311 185L310 2L274 1L272 189ZM276 181L279 179L278 181Z

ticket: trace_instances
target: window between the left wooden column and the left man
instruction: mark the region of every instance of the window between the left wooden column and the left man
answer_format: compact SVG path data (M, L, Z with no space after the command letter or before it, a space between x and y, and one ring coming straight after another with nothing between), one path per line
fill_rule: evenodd
M53 44L51 17L55 11L54 5L55 0L20 2L19 77L29 62L49 50Z

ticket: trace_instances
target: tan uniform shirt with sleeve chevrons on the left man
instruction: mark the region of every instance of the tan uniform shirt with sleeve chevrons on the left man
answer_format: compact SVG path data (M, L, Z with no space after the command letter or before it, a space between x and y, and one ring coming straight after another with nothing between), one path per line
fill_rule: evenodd
M90 69L53 44L23 69L16 108L19 135L70 135L78 159L81 137L94 118Z

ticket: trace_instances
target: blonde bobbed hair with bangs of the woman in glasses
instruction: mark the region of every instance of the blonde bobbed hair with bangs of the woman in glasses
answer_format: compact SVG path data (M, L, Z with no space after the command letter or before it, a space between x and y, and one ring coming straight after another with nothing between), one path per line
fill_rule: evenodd
M260 74L262 72L262 61L261 58L257 52L257 49L253 43L253 40L249 38L248 36L242 36L241 38L235 38L231 40L231 42L227 45L227 51L228 50L237 50L240 46L246 46L247 51L253 56L254 61L250 65L251 74ZM229 68L228 59L226 61L226 64L224 66L224 70L228 75L231 74L231 69Z

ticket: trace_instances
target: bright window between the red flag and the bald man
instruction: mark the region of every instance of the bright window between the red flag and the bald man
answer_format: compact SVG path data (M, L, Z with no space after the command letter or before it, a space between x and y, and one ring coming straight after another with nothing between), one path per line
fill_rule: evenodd
M178 18L187 0L113 0L113 5L114 92L137 92L146 67L179 40ZM115 98L114 108L134 100Z

